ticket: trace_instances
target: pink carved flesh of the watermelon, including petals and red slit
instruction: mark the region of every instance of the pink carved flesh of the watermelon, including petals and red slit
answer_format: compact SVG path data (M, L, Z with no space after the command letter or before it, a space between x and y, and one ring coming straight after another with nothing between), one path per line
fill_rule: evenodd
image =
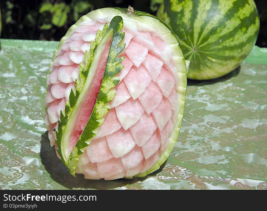
M78 64L83 62L85 50L90 50L90 42L105 22L105 19L88 21L75 28L53 62L45 99L51 146L55 143L52 130L57 127L59 111L69 100L70 87L75 89L74 82L79 79ZM177 81L168 45L153 32L134 34L127 28L123 31L126 48L121 56L125 59L122 71L117 74L120 78L115 87L117 94L103 124L77 163L76 173L84 174L86 179L117 179L146 172L166 150L174 128L173 113L178 109ZM108 50L107 45L93 83L79 108L69 139L69 151L92 113Z

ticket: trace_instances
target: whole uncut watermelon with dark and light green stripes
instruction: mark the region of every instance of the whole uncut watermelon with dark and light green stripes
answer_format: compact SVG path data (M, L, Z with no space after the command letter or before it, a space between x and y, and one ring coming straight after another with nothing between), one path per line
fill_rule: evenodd
M177 35L188 78L215 79L240 65L259 33L253 0L166 0L157 17Z

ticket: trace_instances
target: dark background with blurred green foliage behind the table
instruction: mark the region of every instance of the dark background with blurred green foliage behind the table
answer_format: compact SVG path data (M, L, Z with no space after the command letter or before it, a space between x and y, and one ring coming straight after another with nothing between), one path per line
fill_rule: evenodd
M103 7L127 8L156 15L162 0L0 0L1 38L57 40L79 17ZM260 15L260 32L256 45L267 47L266 0L255 0Z

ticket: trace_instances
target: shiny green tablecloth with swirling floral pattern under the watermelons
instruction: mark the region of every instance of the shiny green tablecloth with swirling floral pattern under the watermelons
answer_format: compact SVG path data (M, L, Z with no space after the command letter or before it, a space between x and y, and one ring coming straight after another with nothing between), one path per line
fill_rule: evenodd
M71 176L44 122L48 66L58 42L1 40L0 189L267 189L267 49L211 81L188 80L171 155L143 178Z

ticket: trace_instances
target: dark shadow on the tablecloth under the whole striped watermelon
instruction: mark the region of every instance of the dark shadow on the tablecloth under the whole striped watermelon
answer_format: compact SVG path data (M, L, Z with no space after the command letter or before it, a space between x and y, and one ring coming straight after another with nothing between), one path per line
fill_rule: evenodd
M188 79L187 80L187 85L188 86L203 86L203 85L209 85L209 84L214 84L218 82L224 82L226 80L229 80L235 76L237 76L240 72L241 66L239 65L237 68L235 68L233 71L229 72L226 75L223 75L217 79L211 79L211 80L204 80L204 81L198 81L198 80L193 80L193 79Z

